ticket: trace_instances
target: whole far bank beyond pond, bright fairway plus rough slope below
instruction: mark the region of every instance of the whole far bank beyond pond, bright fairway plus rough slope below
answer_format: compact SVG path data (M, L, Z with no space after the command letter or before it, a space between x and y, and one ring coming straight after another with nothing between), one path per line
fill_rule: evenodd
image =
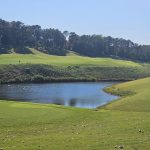
M111 58L31 54L0 55L0 83L134 80L150 76L150 65Z

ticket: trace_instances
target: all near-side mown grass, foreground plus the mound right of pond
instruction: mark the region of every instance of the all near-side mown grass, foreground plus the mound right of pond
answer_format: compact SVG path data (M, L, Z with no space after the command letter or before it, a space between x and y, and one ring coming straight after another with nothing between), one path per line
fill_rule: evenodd
M0 101L0 148L149 150L149 89L150 78L115 85L121 100L91 110Z

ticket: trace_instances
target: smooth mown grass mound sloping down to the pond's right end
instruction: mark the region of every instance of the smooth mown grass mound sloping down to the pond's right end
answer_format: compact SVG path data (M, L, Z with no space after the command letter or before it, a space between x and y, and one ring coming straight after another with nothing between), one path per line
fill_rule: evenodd
M150 78L127 82L107 88L112 94L122 95L121 100L106 106L108 109L149 112Z

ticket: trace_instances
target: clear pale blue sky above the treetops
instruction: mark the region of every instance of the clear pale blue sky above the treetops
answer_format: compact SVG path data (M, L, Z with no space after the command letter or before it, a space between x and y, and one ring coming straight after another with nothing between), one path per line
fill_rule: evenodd
M0 18L150 45L150 0L0 0Z

